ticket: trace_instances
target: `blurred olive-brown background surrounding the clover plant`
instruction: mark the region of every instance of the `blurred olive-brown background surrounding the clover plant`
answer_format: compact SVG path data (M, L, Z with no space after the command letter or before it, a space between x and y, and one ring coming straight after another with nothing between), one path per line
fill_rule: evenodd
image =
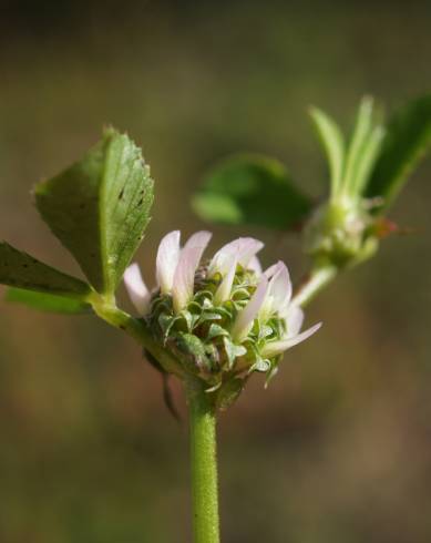
M3 1L0 237L79 273L30 193L109 123L156 180L147 279L164 233L202 228L189 195L227 153L277 156L318 196L307 106L349 126L366 92L390 109L430 91L430 24L425 2ZM392 211L413 233L328 288L307 314L321 331L222 416L224 542L431 541L430 177L428 160ZM294 237L215 234L306 268ZM103 322L0 301L0 431L1 543L191 541L186 422Z

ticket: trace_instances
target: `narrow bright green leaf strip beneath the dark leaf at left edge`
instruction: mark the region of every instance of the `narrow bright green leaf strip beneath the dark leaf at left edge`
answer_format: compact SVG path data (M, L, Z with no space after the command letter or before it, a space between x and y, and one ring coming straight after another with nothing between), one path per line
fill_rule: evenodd
M8 288L4 299L23 304L42 311L64 313L68 315L90 313L91 306L78 299L47 293L35 293L22 288Z

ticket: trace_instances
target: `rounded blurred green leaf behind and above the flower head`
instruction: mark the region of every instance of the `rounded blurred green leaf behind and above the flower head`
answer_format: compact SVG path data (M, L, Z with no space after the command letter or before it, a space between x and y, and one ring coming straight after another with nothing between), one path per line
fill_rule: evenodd
M279 229L295 227L312 207L280 162L253 154L235 155L215 166L192 205L204 221Z

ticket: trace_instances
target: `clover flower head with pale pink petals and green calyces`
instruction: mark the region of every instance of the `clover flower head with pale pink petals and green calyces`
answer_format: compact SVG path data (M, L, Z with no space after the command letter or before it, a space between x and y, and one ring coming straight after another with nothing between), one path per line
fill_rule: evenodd
M156 257L156 287L150 290L132 264L124 283L154 338L217 392L220 404L236 397L254 371L273 377L284 351L311 336L300 331L304 313L291 301L283 262L263 272L264 244L240 237L203 258L209 232L197 232L181 247L179 230L167 234Z

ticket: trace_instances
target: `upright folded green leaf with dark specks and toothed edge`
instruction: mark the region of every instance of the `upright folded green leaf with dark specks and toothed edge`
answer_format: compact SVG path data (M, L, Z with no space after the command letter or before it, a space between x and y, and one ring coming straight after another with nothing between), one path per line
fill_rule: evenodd
M113 294L150 221L153 181L141 150L106 130L82 160L37 186L35 202L93 287Z

